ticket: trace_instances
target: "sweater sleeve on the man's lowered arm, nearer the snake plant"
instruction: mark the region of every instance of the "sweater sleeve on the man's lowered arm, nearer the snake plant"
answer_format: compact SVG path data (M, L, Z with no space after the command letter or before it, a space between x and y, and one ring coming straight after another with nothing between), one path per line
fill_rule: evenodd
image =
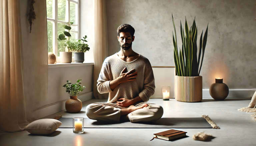
M144 70L144 86L139 96L144 102L147 102L149 97L155 93L155 78L149 60L147 60Z

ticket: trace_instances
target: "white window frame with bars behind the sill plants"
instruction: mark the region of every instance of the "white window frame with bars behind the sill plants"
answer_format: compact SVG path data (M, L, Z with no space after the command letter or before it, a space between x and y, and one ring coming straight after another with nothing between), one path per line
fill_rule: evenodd
M60 62L60 57L58 56L58 23L70 23L70 2L76 3L77 4L77 24L73 24L72 26L77 26L77 31L72 31L70 30L70 32L75 32L77 33L77 37L78 39L80 38L80 0L74 1L74 0L66 0L66 16L68 18L68 22L66 21L62 21L62 20L58 20L58 0L53 0L53 4L52 4L52 13L53 13L53 18L48 18L47 17L47 21L51 21L53 22L53 33L52 33L52 46L53 46L53 53L56 56L57 59L57 63ZM67 7L68 6L68 7ZM47 36L48 37L48 36ZM47 45L48 48L48 45Z

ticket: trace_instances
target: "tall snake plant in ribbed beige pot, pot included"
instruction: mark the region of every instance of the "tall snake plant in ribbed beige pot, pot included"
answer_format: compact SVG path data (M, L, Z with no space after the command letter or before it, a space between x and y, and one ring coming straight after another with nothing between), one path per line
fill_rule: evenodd
M180 22L180 32L182 40L182 49L177 47L176 28L172 16L174 34L174 62L175 62L175 92L177 101L197 102L202 100L202 76L200 71L204 59L205 46L207 41L208 25L203 37L203 31L200 37L199 53L197 58L197 26L195 19L193 25L188 27L185 19L185 34ZM202 55L202 58L201 58ZM201 59L201 62L200 62ZM200 68L199 68L200 66ZM198 71L199 70L199 71Z

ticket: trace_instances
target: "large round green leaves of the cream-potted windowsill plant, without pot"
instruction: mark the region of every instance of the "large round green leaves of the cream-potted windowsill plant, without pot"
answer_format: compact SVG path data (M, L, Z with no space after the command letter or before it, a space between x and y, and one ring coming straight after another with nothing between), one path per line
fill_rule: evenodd
M59 36L58 36L58 41L59 41L61 48L68 46L67 43L69 43L69 37L71 37L71 34L69 32L71 30L72 24L73 24L73 22L70 22L70 23L67 23L67 25L62 26L65 29L65 31L63 31L63 33L59 34ZM67 48L67 50L68 50L68 52L72 51L72 50L70 50L70 48Z

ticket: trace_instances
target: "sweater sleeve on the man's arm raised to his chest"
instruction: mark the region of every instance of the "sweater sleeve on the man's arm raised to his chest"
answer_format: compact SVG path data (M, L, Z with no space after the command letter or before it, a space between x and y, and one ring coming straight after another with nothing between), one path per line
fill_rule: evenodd
M104 60L97 80L97 89L100 94L112 92L110 88L109 66L107 59Z

